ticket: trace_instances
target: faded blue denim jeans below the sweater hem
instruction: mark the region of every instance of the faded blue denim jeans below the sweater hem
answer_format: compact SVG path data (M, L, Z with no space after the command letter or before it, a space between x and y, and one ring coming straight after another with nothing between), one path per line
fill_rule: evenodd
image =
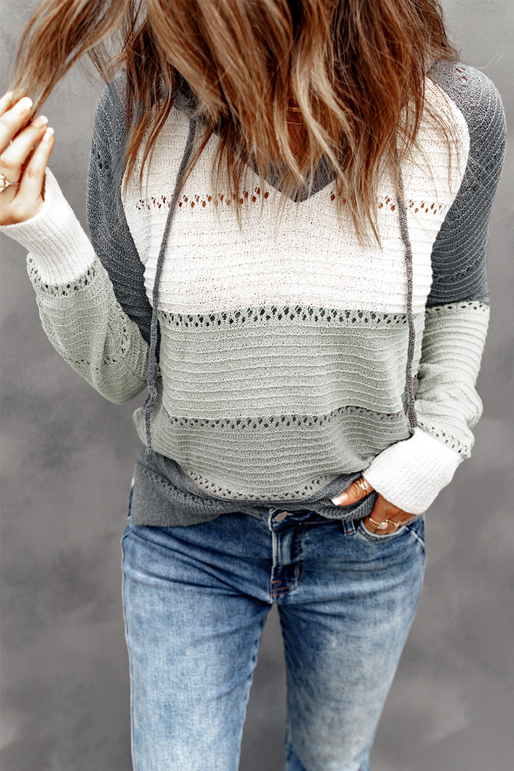
M237 771L274 603L287 771L368 771L422 587L422 517L386 536L305 510L189 527L129 517L122 544L135 771Z

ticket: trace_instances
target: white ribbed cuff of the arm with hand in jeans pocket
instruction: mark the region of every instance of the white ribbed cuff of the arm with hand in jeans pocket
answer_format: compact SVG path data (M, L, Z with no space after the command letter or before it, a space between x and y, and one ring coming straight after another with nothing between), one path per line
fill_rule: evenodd
M372 461L363 476L389 503L422 514L452 481L462 456L423 429L391 444Z

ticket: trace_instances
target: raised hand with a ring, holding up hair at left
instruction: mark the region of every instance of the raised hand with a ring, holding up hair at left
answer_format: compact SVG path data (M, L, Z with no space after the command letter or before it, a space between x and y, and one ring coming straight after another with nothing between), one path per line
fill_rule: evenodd
M44 116L26 125L31 108L28 96L14 103L8 92L0 99L0 225L30 220L43 205L54 136Z

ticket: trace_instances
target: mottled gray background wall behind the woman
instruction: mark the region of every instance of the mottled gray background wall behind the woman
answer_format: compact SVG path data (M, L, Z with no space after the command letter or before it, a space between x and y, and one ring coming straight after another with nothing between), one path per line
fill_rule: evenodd
M35 5L0 0L2 86ZM443 5L462 59L496 83L512 124L514 2ZM83 224L101 89L74 71L44 109L55 128L52 170ZM378 730L373 771L512 769L513 157L510 147L489 241L484 416L472 458L427 514L424 593ZM2 767L128 771L119 537L137 447L131 416L141 397L113 406L59 358L39 324L25 252L6 237L2 381ZM275 611L250 695L241 771L284 767Z

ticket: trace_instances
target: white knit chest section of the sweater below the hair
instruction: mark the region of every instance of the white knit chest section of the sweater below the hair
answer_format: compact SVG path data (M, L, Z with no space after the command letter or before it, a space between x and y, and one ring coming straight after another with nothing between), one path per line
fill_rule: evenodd
M448 180L445 144L424 120L418 140L421 150L402 167L414 254L414 312L425 308L432 282L432 245L459 189L469 140L462 113L442 89L427 80L427 94L432 106L456 126L462 153ZM142 198L139 190L131 187L124 202L130 230L146 266L145 285L150 299L173 195L173 163L181 157L187 129L186 116L173 110L160 133L152 173L149 180L144 178L145 184L148 181L147 196ZM160 281L161 310L208 313L245 305L309 304L405 311L405 247L395 190L387 176L382 177L378 191L382 248L376 243L369 247L358 244L348 211L344 212L342 227L338 224L334 183L303 201L298 210L287 200L275 239L275 190L265 180L254 177L252 181L253 171L249 173L251 184L240 191L244 201L241 232L233 194L227 191L217 202L211 195L210 170L218 141L217 136L211 137L182 191ZM423 152L430 158L429 168Z

